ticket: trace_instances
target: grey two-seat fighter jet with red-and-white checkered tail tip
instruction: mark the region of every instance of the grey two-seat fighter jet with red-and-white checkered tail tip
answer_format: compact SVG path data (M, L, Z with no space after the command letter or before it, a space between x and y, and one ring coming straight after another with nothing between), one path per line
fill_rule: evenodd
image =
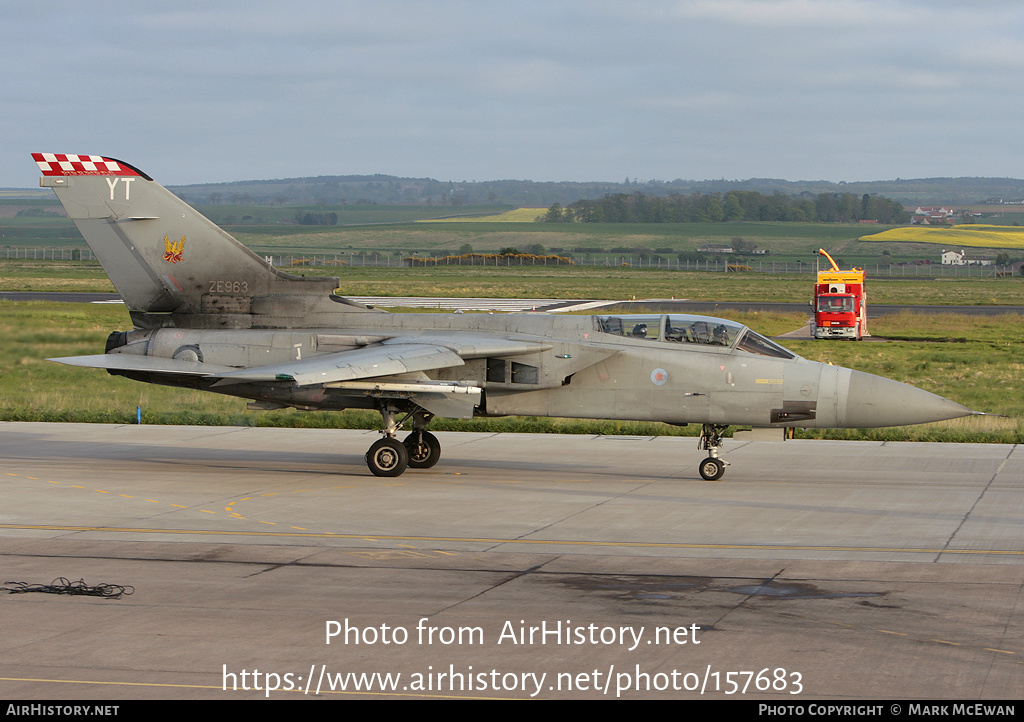
M437 463L437 416L700 424L721 478L730 425L852 428L975 412L912 386L800 357L735 322L682 313L388 313L337 278L285 273L138 168L34 154L131 314L105 352L53 358L147 383L250 399L250 409L371 409L378 476ZM402 439L399 430L412 422Z

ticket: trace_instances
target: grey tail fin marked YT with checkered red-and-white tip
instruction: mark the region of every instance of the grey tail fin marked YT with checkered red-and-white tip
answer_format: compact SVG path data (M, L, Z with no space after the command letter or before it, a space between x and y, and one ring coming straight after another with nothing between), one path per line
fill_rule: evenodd
M43 174L40 185L53 188L136 325L301 323L330 303L338 287L337 278L278 270L127 163L51 153L33 158ZM365 310L348 307L356 308Z

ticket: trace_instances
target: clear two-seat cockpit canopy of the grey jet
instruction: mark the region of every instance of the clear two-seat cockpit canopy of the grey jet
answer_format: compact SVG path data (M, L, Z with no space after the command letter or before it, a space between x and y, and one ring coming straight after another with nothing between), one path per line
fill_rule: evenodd
M742 324L725 318L683 313L631 313L598 315L594 318L598 330L615 336L722 346L775 358L797 357L796 353L751 331Z

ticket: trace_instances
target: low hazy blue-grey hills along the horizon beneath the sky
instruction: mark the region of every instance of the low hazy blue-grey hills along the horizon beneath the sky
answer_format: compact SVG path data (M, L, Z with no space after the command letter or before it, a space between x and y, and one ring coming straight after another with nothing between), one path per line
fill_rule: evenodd
M609 194L651 196L691 193L725 194L757 190L762 194L813 197L819 194L885 196L907 206L966 206L1024 200L1024 180L1018 178L914 178L834 183L827 180L625 180L623 182L538 182L532 180L442 181L393 175L322 175L275 180L174 185L171 189L193 204L335 205L341 203L415 204L457 207L478 204L563 206Z

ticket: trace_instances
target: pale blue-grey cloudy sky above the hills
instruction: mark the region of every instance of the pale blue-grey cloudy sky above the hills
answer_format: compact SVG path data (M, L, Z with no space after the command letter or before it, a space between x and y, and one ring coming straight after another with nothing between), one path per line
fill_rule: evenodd
M0 0L0 186L1024 177L1019 0Z

